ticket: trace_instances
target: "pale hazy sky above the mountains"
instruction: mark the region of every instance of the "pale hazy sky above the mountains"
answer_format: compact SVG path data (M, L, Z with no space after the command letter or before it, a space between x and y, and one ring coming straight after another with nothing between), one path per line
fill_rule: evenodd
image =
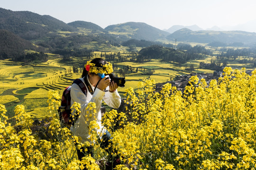
M65 23L88 21L102 28L133 21L159 29L206 29L256 20L256 0L0 0L0 8L50 15Z

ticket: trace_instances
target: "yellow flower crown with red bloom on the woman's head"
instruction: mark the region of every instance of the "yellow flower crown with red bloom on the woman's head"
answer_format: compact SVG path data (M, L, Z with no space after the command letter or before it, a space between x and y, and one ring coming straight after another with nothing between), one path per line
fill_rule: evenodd
M86 69L86 71L95 74L110 74L113 72L111 63L102 65L102 67L95 67L94 63L91 63L91 61L87 61L87 63L84 65L84 68Z

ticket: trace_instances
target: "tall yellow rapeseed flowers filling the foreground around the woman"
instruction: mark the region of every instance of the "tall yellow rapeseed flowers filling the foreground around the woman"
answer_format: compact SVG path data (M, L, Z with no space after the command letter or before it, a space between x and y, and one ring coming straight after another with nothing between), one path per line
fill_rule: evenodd
M125 97L126 111L106 112L102 122L121 157L116 170L256 169L256 70L248 75L245 68L227 67L209 85L192 76L184 93L170 84L155 92L155 81L146 80L136 92L128 88ZM16 125L11 126L0 105L0 169L104 170L108 155L99 147L95 121L90 124L95 157L79 161L75 148L90 144L81 144L63 127L57 91L49 91L47 102L45 111L54 115L47 138L32 133L24 106L16 106ZM73 109L79 113L79 107L75 103ZM93 119L94 103L88 108Z

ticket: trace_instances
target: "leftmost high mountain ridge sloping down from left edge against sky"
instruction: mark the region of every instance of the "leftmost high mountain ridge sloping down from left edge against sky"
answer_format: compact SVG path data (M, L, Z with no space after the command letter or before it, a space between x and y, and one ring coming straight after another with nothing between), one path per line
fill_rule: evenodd
M4 8L0 8L0 29L8 30L28 40L40 38L57 30L78 30L51 16L41 16L29 11L11 11Z

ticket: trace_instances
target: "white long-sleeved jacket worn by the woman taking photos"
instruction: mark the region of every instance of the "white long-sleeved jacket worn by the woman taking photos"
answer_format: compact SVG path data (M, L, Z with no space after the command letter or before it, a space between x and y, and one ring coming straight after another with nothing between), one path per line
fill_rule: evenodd
M82 82L84 83L83 78L80 78ZM88 77L87 77L88 80ZM91 85L90 81L88 80L89 84ZM86 86L86 84L84 83ZM94 87L91 85L92 90L94 91ZM90 121L87 121L86 123L86 107L89 102L94 102L96 104L96 121L100 127L100 129L97 130L98 133L104 134L106 132L106 128L101 125L101 103L102 99L104 102L109 105L112 108L119 108L121 104L121 97L119 93L114 91L113 93L111 92L104 92L101 91L100 89L96 88L95 92L93 95L91 95L90 91L87 89L87 96L82 93L81 88L77 84L73 84L71 86L70 90L70 95L71 95L71 106L73 105L74 102L78 102L81 104L81 113L80 117L76 120L75 125L71 126L70 130L73 132L75 136L80 136L82 138L82 142L90 142L91 141L88 139L89 136L89 124ZM109 86L106 88L106 90L109 90ZM73 113L72 113L73 114ZM88 115L89 117L89 115ZM87 117L87 118L88 118ZM101 137L101 136L100 136Z

